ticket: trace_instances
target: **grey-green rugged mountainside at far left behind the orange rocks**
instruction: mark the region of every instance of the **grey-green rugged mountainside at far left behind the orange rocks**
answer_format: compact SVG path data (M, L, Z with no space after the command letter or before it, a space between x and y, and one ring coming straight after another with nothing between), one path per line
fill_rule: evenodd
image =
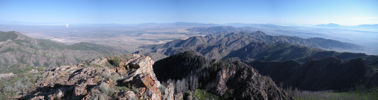
M124 53L127 51L108 45L88 42L67 45L49 39L35 39L17 31L0 31L0 73L17 73L38 66L54 68Z

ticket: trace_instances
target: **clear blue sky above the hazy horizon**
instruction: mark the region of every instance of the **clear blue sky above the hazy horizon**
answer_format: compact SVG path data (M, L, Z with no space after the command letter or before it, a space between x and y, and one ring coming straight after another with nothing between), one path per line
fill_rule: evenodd
M360 25L378 24L378 0L0 0L0 20Z

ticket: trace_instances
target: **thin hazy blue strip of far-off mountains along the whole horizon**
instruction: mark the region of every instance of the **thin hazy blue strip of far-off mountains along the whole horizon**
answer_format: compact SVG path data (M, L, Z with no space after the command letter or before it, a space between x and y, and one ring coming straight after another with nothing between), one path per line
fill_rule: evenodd
M98 24L98 23L73 23L73 22L51 22L51 23L35 23L35 22L17 22L17 21L0 21L0 24L36 24L36 25L43 25L43 24L85 24L86 26L186 26L186 27L212 27L212 26L232 26L232 27L255 27L255 28L267 28L268 26L274 27L313 27L313 28L340 28L340 29L347 29L347 30L359 30L359 31L373 31L378 32L378 24L373 25L357 25L357 26L344 26L339 25L336 23L329 23L329 24L285 24L285 23L267 23L267 24L256 24L256 23L225 23L225 24L214 24L214 23L198 23L198 22L174 22L174 23L140 23L140 24ZM272 28L272 27L271 27ZM261 29L260 29L261 30Z

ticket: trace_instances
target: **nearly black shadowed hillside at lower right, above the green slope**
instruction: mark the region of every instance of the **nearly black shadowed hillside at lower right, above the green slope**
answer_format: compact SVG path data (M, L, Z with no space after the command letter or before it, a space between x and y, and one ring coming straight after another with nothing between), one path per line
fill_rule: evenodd
M335 56L315 59L308 58L305 63L293 60L263 62L252 61L248 65L269 75L276 84L297 87L301 90L321 91L340 90L359 86L363 83L376 84L378 70L367 66L362 58L343 61Z

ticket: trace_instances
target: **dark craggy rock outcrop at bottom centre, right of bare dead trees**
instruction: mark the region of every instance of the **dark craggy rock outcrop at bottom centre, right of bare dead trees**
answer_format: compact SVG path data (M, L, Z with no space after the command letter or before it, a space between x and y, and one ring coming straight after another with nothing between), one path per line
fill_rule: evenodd
M269 77L257 70L235 61L222 66L205 89L219 96L230 96L237 100L294 100L283 89L277 88Z

